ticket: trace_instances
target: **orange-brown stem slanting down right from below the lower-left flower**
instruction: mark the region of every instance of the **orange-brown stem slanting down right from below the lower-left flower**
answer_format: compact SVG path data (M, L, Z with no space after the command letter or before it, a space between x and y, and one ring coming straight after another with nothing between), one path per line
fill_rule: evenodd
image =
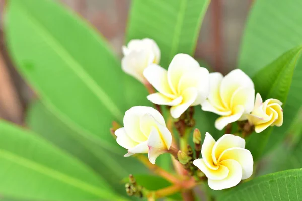
M171 183L178 183L179 179L176 178L173 174L170 174L169 172L165 171L161 167L157 165L153 165L150 163L147 157L141 154L136 154L135 156L140 162L142 162L146 167L148 167L151 171L153 171L155 174L162 176L167 181L170 181Z

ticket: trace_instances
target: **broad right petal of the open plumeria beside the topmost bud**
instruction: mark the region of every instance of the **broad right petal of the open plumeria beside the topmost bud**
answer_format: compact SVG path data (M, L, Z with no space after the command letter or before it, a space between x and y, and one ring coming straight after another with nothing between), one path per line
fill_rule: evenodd
M192 104L200 105L209 95L209 71L206 68L196 68L196 70L185 73L178 84L178 94L182 94L187 88L194 87L198 91L197 98Z

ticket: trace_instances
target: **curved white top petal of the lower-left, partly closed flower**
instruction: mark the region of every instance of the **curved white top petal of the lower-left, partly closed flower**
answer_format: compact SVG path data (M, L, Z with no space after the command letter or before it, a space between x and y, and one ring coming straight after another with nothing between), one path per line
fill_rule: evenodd
M125 130L132 140L139 143L147 140L147 137L140 130L140 119L147 113L150 114L160 124L166 125L161 113L152 107L135 106L125 112Z

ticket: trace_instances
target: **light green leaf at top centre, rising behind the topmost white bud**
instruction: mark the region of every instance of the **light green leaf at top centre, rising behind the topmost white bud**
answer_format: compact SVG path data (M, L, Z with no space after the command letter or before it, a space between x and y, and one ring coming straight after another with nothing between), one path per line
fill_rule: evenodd
M134 0L126 40L151 38L161 50L161 65L168 67L177 53L193 55L209 0Z

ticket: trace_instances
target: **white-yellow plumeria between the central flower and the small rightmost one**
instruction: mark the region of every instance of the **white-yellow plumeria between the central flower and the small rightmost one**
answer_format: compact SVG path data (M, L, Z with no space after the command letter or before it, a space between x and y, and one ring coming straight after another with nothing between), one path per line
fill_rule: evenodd
M202 110L220 115L215 127L222 130L229 123L246 120L245 114L254 107L255 89L253 81L240 69L225 77L221 73L210 73L210 95L202 103Z

